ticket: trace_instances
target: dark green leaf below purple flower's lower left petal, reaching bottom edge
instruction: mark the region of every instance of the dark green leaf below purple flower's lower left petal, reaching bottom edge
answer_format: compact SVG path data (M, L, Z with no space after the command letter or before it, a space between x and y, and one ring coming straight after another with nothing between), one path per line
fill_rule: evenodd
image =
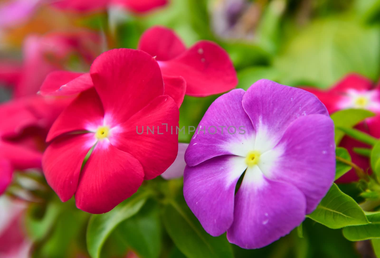
M162 219L174 244L187 258L233 258L226 236L207 234L184 200L166 204Z

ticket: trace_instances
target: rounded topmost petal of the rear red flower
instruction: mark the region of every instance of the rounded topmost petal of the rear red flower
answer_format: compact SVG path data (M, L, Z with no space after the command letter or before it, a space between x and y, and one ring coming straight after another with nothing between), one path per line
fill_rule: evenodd
M184 43L173 30L160 26L154 26L142 33L138 49L160 61L173 59L186 51Z

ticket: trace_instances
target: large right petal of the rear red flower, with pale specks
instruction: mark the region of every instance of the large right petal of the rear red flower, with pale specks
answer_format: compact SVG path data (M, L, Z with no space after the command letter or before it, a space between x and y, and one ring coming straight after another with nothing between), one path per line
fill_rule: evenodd
M186 94L204 97L234 89L237 77L227 52L215 43L199 41L173 60L161 62L165 75L182 76Z

